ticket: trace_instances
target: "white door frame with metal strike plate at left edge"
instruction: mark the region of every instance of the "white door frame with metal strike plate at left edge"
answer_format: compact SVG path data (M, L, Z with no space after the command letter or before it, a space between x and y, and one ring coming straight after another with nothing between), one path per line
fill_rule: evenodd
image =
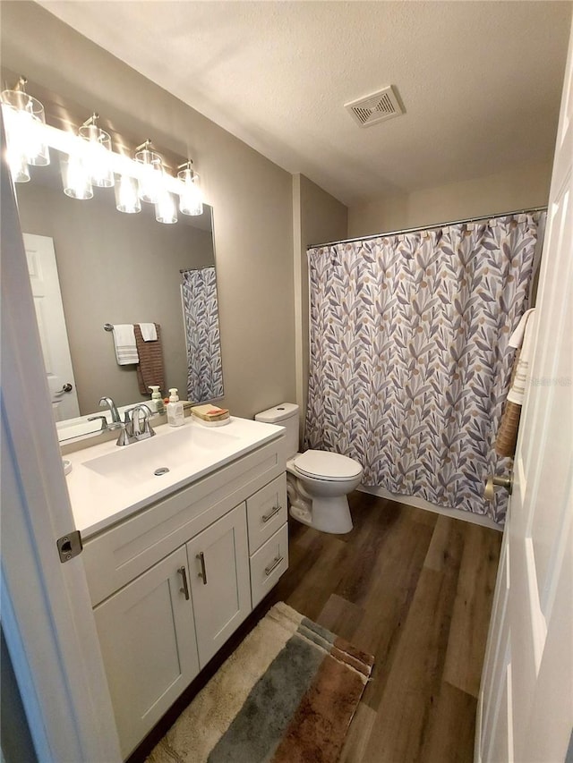
M121 760L42 360L12 179L2 166L2 627L39 761Z

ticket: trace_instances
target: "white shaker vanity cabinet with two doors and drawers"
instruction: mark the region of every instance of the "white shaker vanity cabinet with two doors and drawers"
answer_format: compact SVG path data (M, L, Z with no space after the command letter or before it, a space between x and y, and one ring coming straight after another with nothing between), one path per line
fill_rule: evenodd
M83 556L127 758L286 570L284 437L84 538Z

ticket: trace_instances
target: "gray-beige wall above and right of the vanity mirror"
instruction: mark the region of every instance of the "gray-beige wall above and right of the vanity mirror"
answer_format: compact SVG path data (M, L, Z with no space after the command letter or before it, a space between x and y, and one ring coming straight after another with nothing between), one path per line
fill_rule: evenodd
M38 5L3 2L0 13L2 63L32 95L37 82L98 111L102 126L192 157L214 208L224 403L251 417L294 400L291 175Z

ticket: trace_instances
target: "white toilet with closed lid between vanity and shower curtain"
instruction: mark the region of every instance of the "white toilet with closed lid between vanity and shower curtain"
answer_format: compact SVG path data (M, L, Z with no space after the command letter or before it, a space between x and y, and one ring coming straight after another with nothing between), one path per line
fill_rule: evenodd
M323 532L352 530L346 496L360 485L362 466L346 455L298 450L298 405L280 403L257 413L257 421L286 428L286 491L295 520Z

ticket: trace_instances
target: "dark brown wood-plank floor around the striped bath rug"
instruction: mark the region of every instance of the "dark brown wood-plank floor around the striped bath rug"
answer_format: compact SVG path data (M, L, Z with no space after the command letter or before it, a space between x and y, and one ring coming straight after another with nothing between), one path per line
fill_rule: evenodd
M278 586L130 763L144 759L276 601L375 657L340 763L473 761L501 533L364 493L349 502L355 527L346 535L289 520L290 566Z

